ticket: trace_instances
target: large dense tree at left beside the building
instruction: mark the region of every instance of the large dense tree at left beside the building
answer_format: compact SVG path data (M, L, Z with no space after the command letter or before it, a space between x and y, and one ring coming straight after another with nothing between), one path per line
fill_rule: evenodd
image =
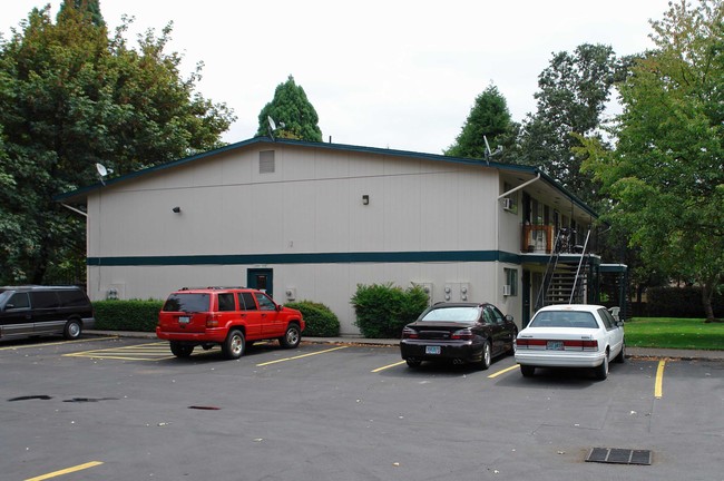
M97 181L96 163L127 174L207 150L234 119L194 92L200 65L180 78L180 57L164 52L170 24L136 50L129 20L109 38L97 7L66 1L56 23L48 7L33 9L0 43L3 283L82 281L53 277L82 266L86 243L85 219L52 199Z

